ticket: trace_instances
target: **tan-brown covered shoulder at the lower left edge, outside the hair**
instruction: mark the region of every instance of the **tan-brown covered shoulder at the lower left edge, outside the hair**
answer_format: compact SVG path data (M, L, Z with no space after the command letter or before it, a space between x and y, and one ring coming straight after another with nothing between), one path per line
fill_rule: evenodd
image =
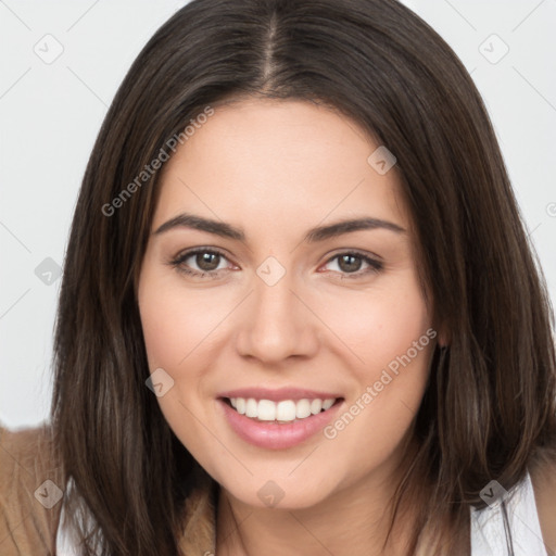
M48 425L0 425L1 554L54 554L63 484Z

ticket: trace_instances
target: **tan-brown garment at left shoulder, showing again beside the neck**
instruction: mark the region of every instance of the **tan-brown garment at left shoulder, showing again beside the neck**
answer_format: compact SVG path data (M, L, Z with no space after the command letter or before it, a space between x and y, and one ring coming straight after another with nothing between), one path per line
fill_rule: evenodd
M47 425L0 427L0 555L54 556L65 480ZM48 482L51 481L51 482ZM187 556L215 552L214 480L200 476L186 502L179 547ZM49 507L51 506L51 507Z

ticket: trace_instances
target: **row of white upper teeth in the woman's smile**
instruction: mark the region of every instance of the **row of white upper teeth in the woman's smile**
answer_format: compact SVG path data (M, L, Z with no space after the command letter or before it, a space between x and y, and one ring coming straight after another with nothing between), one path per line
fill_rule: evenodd
M334 404L336 399L327 400L283 400L273 402L271 400L260 400L253 397L230 397L231 406L240 414L258 419L260 421L292 422L295 419L305 419L311 415L317 415L321 410L329 409Z

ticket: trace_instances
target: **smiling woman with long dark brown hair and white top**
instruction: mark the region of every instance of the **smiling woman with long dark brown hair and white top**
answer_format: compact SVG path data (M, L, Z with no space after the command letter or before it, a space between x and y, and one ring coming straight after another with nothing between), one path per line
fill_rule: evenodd
M429 26L393 0L193 0L92 151L52 425L0 439L5 549L552 554L552 324Z

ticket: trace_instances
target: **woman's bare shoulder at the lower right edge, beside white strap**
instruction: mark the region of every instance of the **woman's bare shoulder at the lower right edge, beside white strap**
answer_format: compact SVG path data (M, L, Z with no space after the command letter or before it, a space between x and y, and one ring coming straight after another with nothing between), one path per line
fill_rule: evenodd
M543 455L530 466L539 522L548 556L556 555L556 454Z

